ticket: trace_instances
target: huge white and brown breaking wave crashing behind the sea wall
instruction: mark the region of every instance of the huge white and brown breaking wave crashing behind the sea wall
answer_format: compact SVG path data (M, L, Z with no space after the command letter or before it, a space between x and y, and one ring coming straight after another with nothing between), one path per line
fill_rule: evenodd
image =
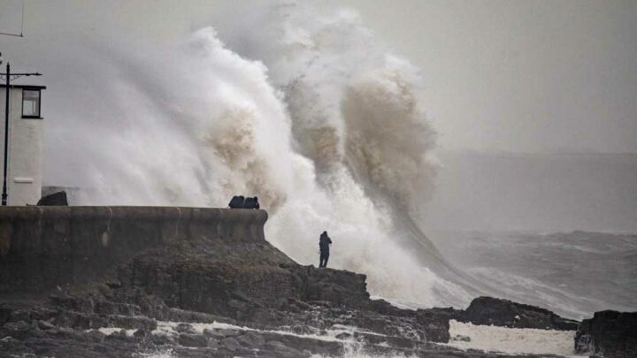
M372 294L464 306L472 290L411 219L436 171L421 73L350 11L280 6L261 20L228 46L207 27L144 56L93 48L75 70L98 95L67 80L76 93L60 106L53 166L73 168L87 204L257 195L267 239L300 263L317 264L326 230L330 266L368 274Z

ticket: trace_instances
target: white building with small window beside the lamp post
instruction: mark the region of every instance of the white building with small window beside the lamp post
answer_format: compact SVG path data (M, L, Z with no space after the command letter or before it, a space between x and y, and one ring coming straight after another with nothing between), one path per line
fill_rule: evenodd
M35 205L42 195L42 89L9 87L8 205ZM0 85L0 193L4 172L4 116L6 85Z

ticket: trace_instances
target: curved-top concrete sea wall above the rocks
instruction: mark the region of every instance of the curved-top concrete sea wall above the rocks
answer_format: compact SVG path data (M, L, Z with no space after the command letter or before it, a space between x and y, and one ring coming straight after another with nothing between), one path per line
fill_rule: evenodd
M178 207L1 207L0 294L95 280L147 248L188 240L264 242L267 213Z

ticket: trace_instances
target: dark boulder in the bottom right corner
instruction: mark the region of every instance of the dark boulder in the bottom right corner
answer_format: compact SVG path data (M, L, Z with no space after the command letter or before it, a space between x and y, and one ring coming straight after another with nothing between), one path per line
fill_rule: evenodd
M579 324L575 352L608 358L637 356L637 312L595 312Z

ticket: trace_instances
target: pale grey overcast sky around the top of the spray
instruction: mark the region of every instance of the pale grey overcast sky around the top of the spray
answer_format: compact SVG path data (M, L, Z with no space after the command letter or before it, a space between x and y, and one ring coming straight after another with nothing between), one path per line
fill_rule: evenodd
M21 3L0 0L0 31L19 31ZM0 36L0 51L42 68L42 41L169 42L215 19L240 19L233 3L29 0L27 37ZM423 70L426 112L442 149L637 152L637 1L311 4L357 10L389 49Z

